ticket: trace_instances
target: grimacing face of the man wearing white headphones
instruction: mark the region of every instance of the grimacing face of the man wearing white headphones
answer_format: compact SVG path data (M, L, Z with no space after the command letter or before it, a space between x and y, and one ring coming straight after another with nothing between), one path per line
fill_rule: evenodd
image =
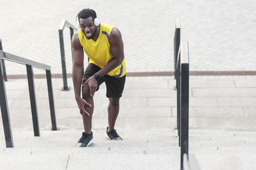
M79 18L80 28L87 39L92 39L97 31L97 27L94 25L93 18Z

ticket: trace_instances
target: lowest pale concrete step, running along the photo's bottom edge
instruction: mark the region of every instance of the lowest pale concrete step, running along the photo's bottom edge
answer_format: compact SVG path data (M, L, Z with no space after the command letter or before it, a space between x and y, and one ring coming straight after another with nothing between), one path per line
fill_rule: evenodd
M179 147L162 150L156 147L162 151L158 153L134 150L132 147L116 150L100 147L4 148L0 151L0 163L3 169L179 169ZM167 150L170 151L167 153ZM255 148L192 146L189 153L196 155L202 169L253 169L255 166Z

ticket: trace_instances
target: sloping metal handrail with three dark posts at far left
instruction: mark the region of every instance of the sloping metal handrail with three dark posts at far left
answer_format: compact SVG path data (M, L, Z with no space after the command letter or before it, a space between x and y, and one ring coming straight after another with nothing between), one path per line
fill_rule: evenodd
M1 106L1 114L2 114L2 120L3 120L6 147L13 148L14 146L13 146L12 129L11 129L10 117L9 117L9 111L8 111L8 103L7 103L7 97L6 97L6 89L4 84L4 71L3 71L2 59L10 60L12 62L17 62L19 64L26 65L31 113L32 113L32 120L33 120L33 130L34 130L35 136L40 136L40 129L38 124L38 114L37 114L37 107L36 107L36 94L35 94L35 83L34 83L34 77L33 77L33 67L45 70L46 78L47 78L49 105L50 105L50 111L51 111L52 131L56 131L57 126L56 126L54 99L53 99L53 92L52 92L51 67L45 64L42 64L40 62L24 59L17 55L13 55L11 53L3 52L2 50L0 50L0 106Z

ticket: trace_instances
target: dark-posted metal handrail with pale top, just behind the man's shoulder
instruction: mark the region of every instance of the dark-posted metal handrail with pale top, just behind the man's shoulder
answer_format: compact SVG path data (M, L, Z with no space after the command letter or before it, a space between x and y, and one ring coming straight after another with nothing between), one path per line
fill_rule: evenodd
M59 27L59 38L60 38L60 54L61 54L61 66L62 66L62 77L63 77L63 89L62 90L70 90L67 83L67 69L66 69L66 60L65 60L65 48L64 48L64 39L63 39L63 31L65 27L70 29L70 41L72 41L72 36L74 31L77 31L77 28L70 24L67 20L62 20ZM71 53L72 53L72 44L71 44ZM73 59L73 53L72 53ZM82 70L84 71L84 69Z

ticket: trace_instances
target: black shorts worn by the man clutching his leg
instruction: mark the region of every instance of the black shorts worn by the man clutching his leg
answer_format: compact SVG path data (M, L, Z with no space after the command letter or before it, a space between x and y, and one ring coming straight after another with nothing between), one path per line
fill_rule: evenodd
M88 64L86 70L84 71L82 83L84 83L84 81L86 81L88 78L93 76L93 74L97 73L98 71L100 71L100 67L98 67L92 63ZM125 84L125 76L126 75L124 75L120 78L115 78L113 76L109 76L108 74L106 74L105 76L103 76L99 79L97 90L99 90L100 85L103 82L105 82L106 88L107 88L106 96L108 98L122 97L122 93L124 90L124 84Z

